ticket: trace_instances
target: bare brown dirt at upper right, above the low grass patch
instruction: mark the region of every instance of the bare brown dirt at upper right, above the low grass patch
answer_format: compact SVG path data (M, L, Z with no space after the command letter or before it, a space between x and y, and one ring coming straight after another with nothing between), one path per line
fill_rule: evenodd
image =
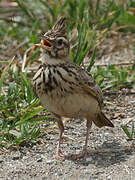
M110 64L116 66L132 65L135 61L134 45L134 34L110 32L97 43L98 52L95 58L95 65L103 67ZM89 60L90 57L85 59L86 66L89 65Z

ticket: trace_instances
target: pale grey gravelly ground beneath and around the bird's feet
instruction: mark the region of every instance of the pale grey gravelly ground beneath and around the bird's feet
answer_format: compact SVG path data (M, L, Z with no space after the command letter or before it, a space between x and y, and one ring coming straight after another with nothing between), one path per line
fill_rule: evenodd
M135 123L135 95L106 97L106 114L115 128L99 129L93 125L86 158L56 160L58 139L56 127L43 128L44 134L33 147L23 147L0 156L0 179L51 180L129 180L135 176L135 143L127 141L121 125L129 120ZM66 120L62 150L65 154L82 150L86 134L86 121ZM130 123L129 123L130 127ZM47 130L48 129L48 130Z

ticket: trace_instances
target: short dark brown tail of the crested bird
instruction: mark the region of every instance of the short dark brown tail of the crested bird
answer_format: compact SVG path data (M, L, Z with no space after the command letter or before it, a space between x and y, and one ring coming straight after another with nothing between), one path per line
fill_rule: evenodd
M98 113L96 120L94 120L94 123L99 128L103 126L114 127L113 123L104 115L102 111Z

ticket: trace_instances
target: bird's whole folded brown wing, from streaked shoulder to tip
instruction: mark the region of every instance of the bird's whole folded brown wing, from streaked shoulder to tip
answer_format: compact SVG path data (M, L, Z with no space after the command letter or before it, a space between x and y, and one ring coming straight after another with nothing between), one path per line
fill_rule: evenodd
M64 63L61 64L61 68L63 68L67 73L64 74L64 78L67 82L69 82L70 87L72 84L76 86L74 92L76 93L87 93L93 96L99 102L100 106L103 103L103 95L100 87L94 80L94 78L87 71L82 69L80 66L77 66L73 63ZM73 75L69 76L69 74ZM73 86L73 87L74 87ZM68 88L69 86L67 86Z

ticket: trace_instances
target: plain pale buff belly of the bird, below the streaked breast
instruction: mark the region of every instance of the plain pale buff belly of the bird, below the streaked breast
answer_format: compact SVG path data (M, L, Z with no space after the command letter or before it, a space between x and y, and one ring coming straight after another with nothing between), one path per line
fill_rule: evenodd
M94 118L100 110L97 100L87 94L69 94L54 98L44 94L40 97L40 101L50 112L62 117Z

